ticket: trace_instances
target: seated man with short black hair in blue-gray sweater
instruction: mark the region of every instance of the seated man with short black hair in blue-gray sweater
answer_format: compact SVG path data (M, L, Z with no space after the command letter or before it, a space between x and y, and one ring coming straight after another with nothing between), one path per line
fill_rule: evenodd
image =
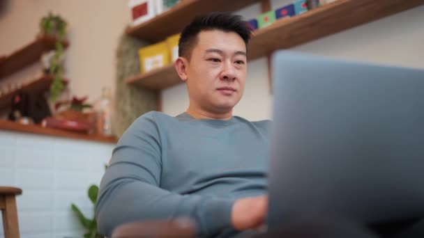
M196 17L179 41L185 113L149 112L127 129L100 184L98 229L189 217L197 235L235 235L264 223L269 121L233 116L243 95L251 30L240 16Z

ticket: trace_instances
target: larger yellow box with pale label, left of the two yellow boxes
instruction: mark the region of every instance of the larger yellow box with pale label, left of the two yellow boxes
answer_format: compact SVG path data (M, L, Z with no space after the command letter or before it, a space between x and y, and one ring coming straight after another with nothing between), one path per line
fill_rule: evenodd
M142 47L138 54L142 73L161 68L170 62L169 48L165 41Z

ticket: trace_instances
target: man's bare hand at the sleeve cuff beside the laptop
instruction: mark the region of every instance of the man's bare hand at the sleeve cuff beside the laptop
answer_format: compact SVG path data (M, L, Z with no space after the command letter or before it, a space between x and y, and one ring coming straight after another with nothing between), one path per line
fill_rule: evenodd
M232 208L232 225L236 230L253 229L262 225L268 212L268 196L241 198Z

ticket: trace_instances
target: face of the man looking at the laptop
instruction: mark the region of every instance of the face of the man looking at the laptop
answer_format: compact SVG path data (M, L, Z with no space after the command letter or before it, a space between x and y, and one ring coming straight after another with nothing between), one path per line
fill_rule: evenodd
M227 112L243 95L246 47L234 32L201 31L186 65L190 104L214 113Z

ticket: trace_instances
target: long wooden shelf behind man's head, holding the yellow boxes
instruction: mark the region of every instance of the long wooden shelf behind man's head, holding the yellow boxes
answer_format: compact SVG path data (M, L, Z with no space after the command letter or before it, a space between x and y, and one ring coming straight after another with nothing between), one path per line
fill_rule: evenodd
M277 49L301 45L423 4L424 0L338 0L296 17L278 19L271 26L258 29L250 40L248 59L268 56ZM144 34L154 35L151 32ZM182 81L173 65L126 79L127 84L152 90L161 90L179 82Z

